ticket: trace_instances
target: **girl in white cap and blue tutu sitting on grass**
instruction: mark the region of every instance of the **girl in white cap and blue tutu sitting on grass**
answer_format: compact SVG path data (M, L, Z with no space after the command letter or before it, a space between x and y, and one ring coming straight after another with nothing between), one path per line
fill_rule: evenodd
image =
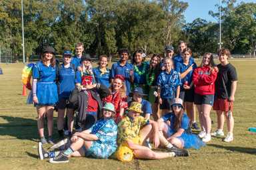
M189 117L184 112L183 101L180 98L171 101L171 110L171 113L157 120L160 133L163 133L172 145L179 148L199 149L205 145L197 135L188 132ZM167 124L167 121L171 124Z

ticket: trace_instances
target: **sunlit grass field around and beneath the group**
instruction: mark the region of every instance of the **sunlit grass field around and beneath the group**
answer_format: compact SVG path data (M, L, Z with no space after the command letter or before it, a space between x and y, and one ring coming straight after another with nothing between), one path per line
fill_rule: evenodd
M190 157L162 160L134 160L131 163L109 159L71 158L53 165L37 156L37 113L21 96L23 64L0 64L0 169L256 169L256 60L231 60L239 83L235 95L235 140L224 143L213 138L200 150L190 149ZM55 117L57 113L54 113ZM215 112L211 113L216 127ZM226 132L226 129L225 129ZM47 133L46 133L47 134ZM55 126L55 137L57 129Z

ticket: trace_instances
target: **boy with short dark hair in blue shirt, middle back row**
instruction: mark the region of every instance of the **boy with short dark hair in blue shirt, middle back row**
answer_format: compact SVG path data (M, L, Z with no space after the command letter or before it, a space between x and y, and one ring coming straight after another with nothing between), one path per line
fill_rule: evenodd
M119 50L120 60L112 65L110 78L111 82L115 78L115 75L120 74L125 77L125 86L127 96L131 92L131 82L133 82L133 64L128 63L129 51L127 48L121 48Z

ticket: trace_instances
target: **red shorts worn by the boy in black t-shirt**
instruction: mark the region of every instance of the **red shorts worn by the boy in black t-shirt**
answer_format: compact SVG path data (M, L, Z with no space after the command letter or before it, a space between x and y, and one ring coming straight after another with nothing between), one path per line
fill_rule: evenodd
M229 102L227 99L215 98L213 104L213 110L221 110L223 112L228 112L229 110L233 112L234 103Z

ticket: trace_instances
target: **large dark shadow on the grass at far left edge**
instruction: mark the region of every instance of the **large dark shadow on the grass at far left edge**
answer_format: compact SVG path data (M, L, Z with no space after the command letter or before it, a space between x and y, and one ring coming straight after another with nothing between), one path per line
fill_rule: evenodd
M10 135L18 139L29 139L31 141L36 141L38 138L36 120L11 116L0 116L0 118L7 122L0 124L0 136Z

